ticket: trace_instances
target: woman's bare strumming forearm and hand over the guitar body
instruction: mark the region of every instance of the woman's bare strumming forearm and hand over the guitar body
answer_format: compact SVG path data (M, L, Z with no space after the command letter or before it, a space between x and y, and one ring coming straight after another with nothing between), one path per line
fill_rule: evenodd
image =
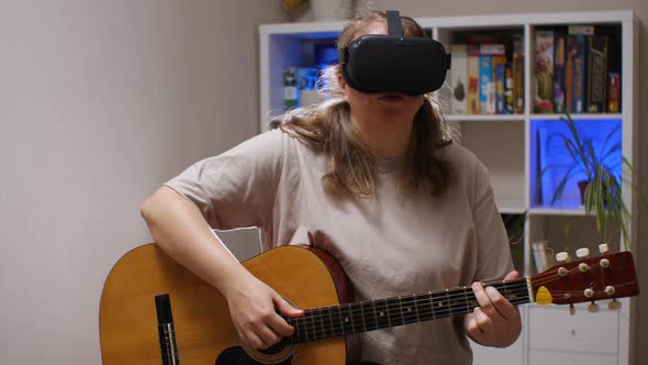
M294 309L243 267L212 233L198 207L175 190L161 187L142 204L142 217L159 247L223 294L243 341L267 349L292 334L277 310Z

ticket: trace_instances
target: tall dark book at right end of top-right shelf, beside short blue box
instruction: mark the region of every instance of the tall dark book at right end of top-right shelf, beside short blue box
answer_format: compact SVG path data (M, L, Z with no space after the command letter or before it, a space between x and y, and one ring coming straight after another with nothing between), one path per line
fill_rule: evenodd
M607 36L588 36L588 112L605 111L607 88Z

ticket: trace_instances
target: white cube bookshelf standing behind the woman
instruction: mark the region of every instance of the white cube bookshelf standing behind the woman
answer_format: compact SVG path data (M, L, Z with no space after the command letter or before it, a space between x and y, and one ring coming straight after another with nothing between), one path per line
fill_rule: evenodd
M557 33L569 32L570 25L592 26L595 32L608 36L608 52L618 71L621 92L618 96L618 112L602 113L573 113L570 115L579 125L588 125L605 129L605 125L621 125L619 137L622 151L619 156L625 157L635 165L638 161L638 22L628 10L594 11L594 12L560 12L560 13L521 13L521 14L494 14L479 16L443 16L417 18L421 25L428 30L432 36L451 52L453 45L458 42L469 43L471 40L493 38L504 45L503 55L506 63L517 62L517 78L515 85L523 88L515 92L514 102L521 102L513 113L467 113L451 110L453 84L442 88L435 95L442 106L448 106L445 118L448 122L456 123L462 133L461 143L472 151L487 165L491 173L491 184L495 201L502 214L526 214L524 237L515 247L515 265L521 274L530 275L535 272L532 245L536 241L546 240L555 251L569 247L576 250L580 246L595 247L601 239L596 236L595 219L586 214L581 204L574 203L573 188L571 196L566 197L557 204L548 206L548 191L543 189L543 164L550 153L543 146L541 134L547 133L550 124L563 118L559 112L537 113L534 110L536 82L536 41L538 32L552 31ZM286 67L313 66L312 53L314 44L328 42L335 44L335 36L342 30L343 22L322 23L291 23L267 24L259 26L259 62L260 62L260 118L259 130L269 129L268 121L273 114L284 109L283 100L283 70ZM491 42L492 43L492 42ZM519 58L513 57L517 53ZM623 57L621 55L623 54ZM457 60L460 57L453 52L453 70L457 69ZM514 76L515 78L515 76ZM515 107L515 106L514 106ZM556 110L555 110L556 111ZM586 111L586 110L585 110ZM619 157L621 158L621 157ZM546 164L546 163L545 163ZM567 191L567 190L566 190ZM623 191L626 204L630 211L637 210L634 192ZM628 222L630 241L637 244L637 228ZM566 226L573 226L571 237L565 239ZM611 248L624 250L618 237L610 240ZM513 251L513 247L512 247ZM519 257L522 255L522 257ZM521 265L518 267L518 265ZM626 303L627 302L627 303ZM615 352L606 354L614 364L629 364L629 343L632 336L630 307L632 300L626 300L618 316L615 317L618 335L607 339L614 343ZM546 313L525 317L525 321L537 321L545 318ZM552 321L551 316L546 317ZM560 323L556 323L559 325ZM529 323L529 325L534 325ZM577 330L578 331L578 330ZM625 339L622 341L621 339ZM521 341L510 352L495 352L479 349L476 351L476 364L538 364L541 355L534 349L537 344L523 333ZM543 349L555 354L565 353L563 349ZM491 354L489 357L489 354ZM490 361L480 361L479 356L485 356ZM584 357L592 356L592 363L602 363L596 349L584 351ZM507 357L509 356L509 357ZM538 357L536 357L538 356ZM567 354L565 356L568 356ZM610 360L606 357L606 360ZM555 357L551 357L555 358Z

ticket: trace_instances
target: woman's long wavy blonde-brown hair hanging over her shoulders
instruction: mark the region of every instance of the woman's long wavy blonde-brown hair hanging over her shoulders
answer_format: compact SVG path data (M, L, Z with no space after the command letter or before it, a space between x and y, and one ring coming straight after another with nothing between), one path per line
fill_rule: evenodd
M369 11L351 18L342 30L337 47L348 46L371 22L387 22L382 11ZM401 16L403 33L425 37L425 30L412 18ZM360 34L361 35L361 34ZM325 153L326 172L322 177L327 193L339 197L373 197L376 193L376 155L361 142L350 122L350 106L339 86L342 66L326 68L319 81L326 86L327 100L297 108L276 118L271 123L315 151ZM432 196L440 196L449 184L451 166L436 156L436 151L458 137L442 117L439 107L426 95L414 115L412 137L405 155L405 166L399 181L400 191L415 191L421 185L429 187Z

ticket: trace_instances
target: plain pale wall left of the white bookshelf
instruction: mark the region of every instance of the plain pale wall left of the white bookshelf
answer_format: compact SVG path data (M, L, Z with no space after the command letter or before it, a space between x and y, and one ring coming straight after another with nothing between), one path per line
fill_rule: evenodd
M100 363L103 280L139 204L257 132L280 1L0 0L2 364Z

